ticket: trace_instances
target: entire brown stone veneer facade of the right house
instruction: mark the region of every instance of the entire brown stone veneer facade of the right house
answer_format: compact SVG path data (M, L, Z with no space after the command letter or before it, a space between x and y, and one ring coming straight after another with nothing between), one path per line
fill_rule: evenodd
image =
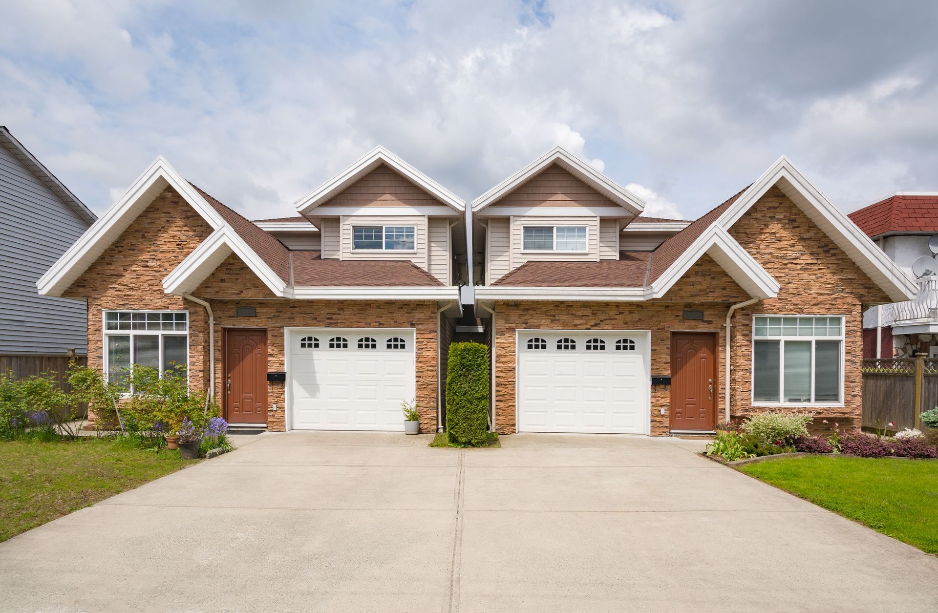
M860 426L862 409L862 313L867 303L889 302L884 292L840 247L773 187L730 230L765 270L779 281L779 297L734 313L730 383L731 418L764 407L751 401L752 316L843 315L846 347L842 407L815 408L841 429ZM663 298L648 302L497 302L495 304L495 425L515 432L515 331L518 329L651 330L651 374L671 374L671 333L715 331L718 336L718 420L725 417L726 314L749 299L716 262L703 256ZM703 310L703 321L682 318L684 309ZM651 386L651 433L669 432L670 386ZM663 411L664 414L661 414ZM829 428L830 425L827 427Z

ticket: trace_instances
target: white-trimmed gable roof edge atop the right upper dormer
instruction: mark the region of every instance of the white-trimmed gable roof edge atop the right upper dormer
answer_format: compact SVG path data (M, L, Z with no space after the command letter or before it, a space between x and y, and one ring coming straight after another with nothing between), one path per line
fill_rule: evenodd
M521 187L552 164L557 164L587 186L596 189L612 202L625 208L631 215L639 215L644 210L644 201L641 198L625 187L619 186L602 172L598 172L586 161L569 153L563 147L556 146L474 200L472 202L473 213L500 201L515 188Z

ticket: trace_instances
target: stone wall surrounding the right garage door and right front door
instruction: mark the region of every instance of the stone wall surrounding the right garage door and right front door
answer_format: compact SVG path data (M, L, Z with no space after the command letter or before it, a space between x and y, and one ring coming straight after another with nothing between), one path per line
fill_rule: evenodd
M714 297L725 304L714 304ZM498 432L516 431L515 331L546 330L651 330L651 374L671 374L673 331L718 331L730 303L747 300L732 277L709 256L696 262L663 298L649 302L499 302L495 305L495 426ZM703 302L706 301L706 302ZM703 310L703 320L685 320L684 310ZM719 339L718 339L719 340ZM722 351L720 350L720 353ZM720 359L720 381L723 377ZM651 381L649 381L650 385ZM671 388L651 388L651 433L669 432ZM661 414L661 410L664 414ZM723 411L723 396L719 396ZM722 414L722 413L720 413Z

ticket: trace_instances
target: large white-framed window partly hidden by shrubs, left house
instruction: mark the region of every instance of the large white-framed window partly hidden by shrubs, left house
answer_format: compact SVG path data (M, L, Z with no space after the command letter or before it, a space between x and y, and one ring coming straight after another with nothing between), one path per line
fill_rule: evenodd
M126 383L132 366L160 377L189 364L189 311L104 311L104 374Z

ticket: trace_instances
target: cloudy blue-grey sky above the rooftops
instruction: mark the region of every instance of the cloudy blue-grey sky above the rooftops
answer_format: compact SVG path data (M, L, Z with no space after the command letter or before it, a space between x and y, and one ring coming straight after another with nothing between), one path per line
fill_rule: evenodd
M694 218L792 158L938 190L934 2L5 0L0 124L92 209L159 154L252 218L376 144L466 200L561 144Z

